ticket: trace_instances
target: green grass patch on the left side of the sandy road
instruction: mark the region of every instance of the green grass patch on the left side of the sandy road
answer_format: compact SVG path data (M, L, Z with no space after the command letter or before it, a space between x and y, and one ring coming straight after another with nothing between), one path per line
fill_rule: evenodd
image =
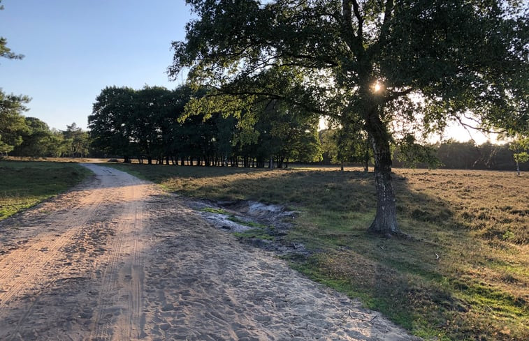
M71 162L0 161L0 220L64 192L88 174Z

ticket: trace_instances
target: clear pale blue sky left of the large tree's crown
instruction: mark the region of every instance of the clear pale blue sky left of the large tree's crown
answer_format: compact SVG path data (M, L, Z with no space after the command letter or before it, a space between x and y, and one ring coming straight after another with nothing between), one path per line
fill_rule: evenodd
M32 98L29 111L50 128L87 116L106 86L173 89L171 42L191 18L183 0L3 0L0 36L22 60L0 59L0 87Z

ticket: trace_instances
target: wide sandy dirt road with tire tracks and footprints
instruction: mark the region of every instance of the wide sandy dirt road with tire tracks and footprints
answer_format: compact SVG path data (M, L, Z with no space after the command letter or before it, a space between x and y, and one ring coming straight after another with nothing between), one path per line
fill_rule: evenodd
M0 222L0 340L416 340L108 167Z

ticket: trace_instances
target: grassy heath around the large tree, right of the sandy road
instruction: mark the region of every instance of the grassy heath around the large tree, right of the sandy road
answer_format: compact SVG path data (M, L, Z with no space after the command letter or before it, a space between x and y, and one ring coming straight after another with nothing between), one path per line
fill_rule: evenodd
M292 266L435 340L529 340L529 177L396 169L400 227L365 231L372 174L117 165L171 191L252 199L300 211L288 238L314 256Z

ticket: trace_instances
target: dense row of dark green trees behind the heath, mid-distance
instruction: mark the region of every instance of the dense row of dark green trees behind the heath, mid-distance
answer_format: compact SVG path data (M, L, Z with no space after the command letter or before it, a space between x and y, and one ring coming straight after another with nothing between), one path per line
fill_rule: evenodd
M103 89L89 116L93 146L108 156L138 158L149 164L244 165L282 167L288 160L321 158L317 119L277 100L259 103L240 116L184 115L201 92L187 86L168 90Z

